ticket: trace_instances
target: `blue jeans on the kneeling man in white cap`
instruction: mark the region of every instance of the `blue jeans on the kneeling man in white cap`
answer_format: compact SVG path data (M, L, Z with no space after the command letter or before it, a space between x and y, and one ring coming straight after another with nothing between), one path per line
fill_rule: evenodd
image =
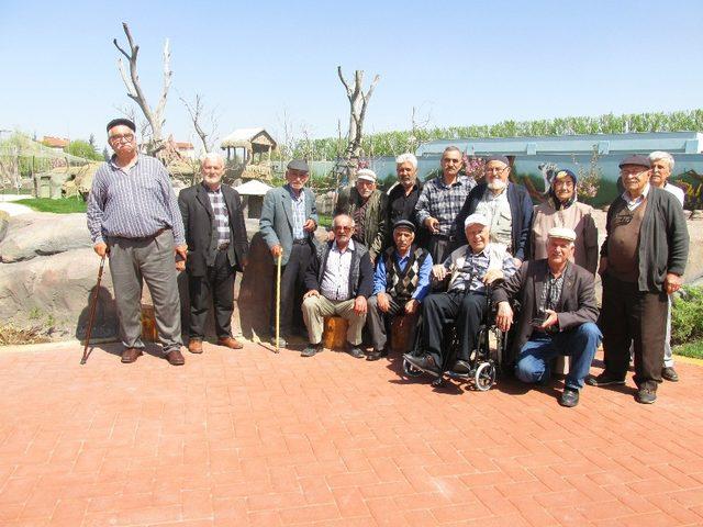
M539 334L527 340L520 350L515 365L515 377L523 382L542 382L549 379L549 362L558 355L571 357L566 386L583 388L599 343L601 330L592 322L554 335Z

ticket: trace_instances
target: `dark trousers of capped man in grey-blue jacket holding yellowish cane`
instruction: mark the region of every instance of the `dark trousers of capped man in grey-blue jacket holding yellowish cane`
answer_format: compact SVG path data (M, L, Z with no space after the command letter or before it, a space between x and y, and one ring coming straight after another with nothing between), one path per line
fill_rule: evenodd
M312 258L310 243L293 244L288 264L281 268L281 336L292 335L295 329L304 330L303 323L303 293L305 271ZM276 335L276 278L274 278L274 295L271 298L271 335Z

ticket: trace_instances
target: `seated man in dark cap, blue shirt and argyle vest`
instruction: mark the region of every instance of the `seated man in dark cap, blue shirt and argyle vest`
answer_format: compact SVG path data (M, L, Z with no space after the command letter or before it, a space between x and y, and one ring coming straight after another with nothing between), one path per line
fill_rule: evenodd
M432 256L426 249L416 247L415 224L399 220L393 224L393 246L378 258L373 273L373 296L369 299L366 324L371 336L373 351L366 360L378 360L388 356L387 324L390 327L395 316L419 313L420 303L429 292ZM414 341L414 325L411 325Z

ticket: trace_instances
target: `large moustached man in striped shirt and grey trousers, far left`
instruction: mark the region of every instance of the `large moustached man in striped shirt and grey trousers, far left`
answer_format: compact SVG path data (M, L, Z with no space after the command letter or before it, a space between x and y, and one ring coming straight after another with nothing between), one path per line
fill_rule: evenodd
M135 130L129 119L108 123L108 143L114 156L93 178L88 229L98 256L110 256L124 346L122 362L134 362L143 354L144 279L154 301L164 357L180 366L185 359L174 254L182 269L187 251L183 222L168 172L158 159L138 153Z

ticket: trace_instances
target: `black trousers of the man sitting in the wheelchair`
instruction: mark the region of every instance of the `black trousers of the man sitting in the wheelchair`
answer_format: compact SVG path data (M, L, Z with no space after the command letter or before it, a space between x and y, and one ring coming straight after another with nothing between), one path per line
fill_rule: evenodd
M449 291L425 298L422 303L421 340L424 351L431 354L437 365L444 365L449 351L449 343L444 341L444 326L454 321L461 343L456 358L469 360L486 310L486 294L481 293Z

